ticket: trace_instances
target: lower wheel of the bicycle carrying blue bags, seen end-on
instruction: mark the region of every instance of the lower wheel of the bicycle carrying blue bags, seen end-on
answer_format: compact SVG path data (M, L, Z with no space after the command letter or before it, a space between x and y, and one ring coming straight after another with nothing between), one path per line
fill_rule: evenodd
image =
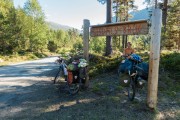
M135 81L133 78L131 78L131 81L128 87L128 98L130 101L134 100L135 94L136 94Z

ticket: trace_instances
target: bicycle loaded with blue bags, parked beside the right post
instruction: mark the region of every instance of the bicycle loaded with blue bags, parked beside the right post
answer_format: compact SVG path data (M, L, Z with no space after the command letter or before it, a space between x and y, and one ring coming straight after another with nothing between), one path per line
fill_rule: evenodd
M125 59L118 68L120 84L127 87L128 98L134 100L136 91L144 87L148 79L148 63L143 62L137 54L123 56ZM124 79L123 75L127 77Z

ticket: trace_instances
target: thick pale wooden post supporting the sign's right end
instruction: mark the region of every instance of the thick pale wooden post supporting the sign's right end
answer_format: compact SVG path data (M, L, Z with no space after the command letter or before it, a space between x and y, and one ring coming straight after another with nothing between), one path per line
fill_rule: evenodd
M157 105L161 24L162 24L162 11L156 8L153 10L153 14L152 14L148 96L147 96L147 104L150 108L153 109Z

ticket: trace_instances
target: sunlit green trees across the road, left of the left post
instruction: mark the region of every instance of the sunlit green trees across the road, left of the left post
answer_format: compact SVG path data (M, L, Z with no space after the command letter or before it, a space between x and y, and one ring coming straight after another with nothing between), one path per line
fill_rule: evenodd
M74 45L82 43L76 29L49 27L37 0L27 0L23 8L15 8L12 0L0 0L0 3L1 55L58 52L63 47L73 49Z

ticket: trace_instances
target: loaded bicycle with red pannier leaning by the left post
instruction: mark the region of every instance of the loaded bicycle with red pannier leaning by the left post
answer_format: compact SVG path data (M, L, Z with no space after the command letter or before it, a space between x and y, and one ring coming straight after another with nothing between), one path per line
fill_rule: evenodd
M72 95L78 93L86 81L87 61L85 59L78 59L69 65L66 65L62 58L59 61L59 71L56 74L54 83L57 83L57 81L66 81L69 93Z

